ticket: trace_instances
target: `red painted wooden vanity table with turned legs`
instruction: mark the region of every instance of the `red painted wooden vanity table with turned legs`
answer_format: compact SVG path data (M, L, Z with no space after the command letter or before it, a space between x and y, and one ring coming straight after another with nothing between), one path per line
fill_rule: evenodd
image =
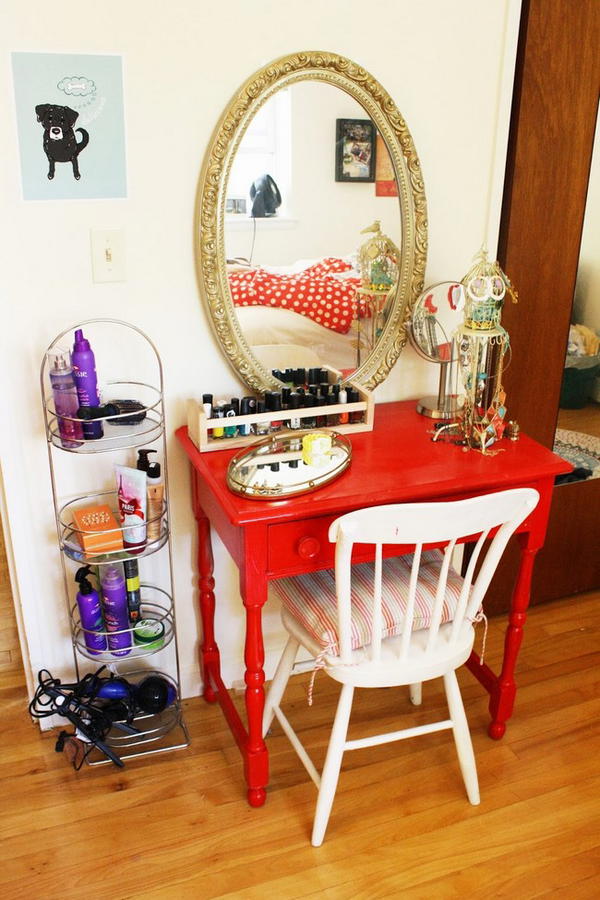
M556 475L569 463L525 435L503 439L500 452L483 456L453 444L431 440L432 422L418 415L414 401L375 409L371 432L351 435L350 467L331 484L290 500L246 500L226 484L234 451L200 453L180 428L177 437L191 463L192 502L198 525L198 572L203 639L201 666L204 697L219 701L244 759L248 801L261 806L268 783L268 753L262 739L264 648L261 612L271 578L331 568L334 545L327 538L337 516L362 506L409 501L455 500L514 487L533 487L540 502L521 525L518 577L511 600L500 675L480 665L475 653L467 665L490 694L489 734L501 738L510 718L516 685L514 670L529 603L533 562L542 547ZM496 448L494 448L496 449ZM210 539L214 528L240 571L246 610L246 712L241 721L220 674L214 634L214 578ZM357 561L368 558L358 554Z

